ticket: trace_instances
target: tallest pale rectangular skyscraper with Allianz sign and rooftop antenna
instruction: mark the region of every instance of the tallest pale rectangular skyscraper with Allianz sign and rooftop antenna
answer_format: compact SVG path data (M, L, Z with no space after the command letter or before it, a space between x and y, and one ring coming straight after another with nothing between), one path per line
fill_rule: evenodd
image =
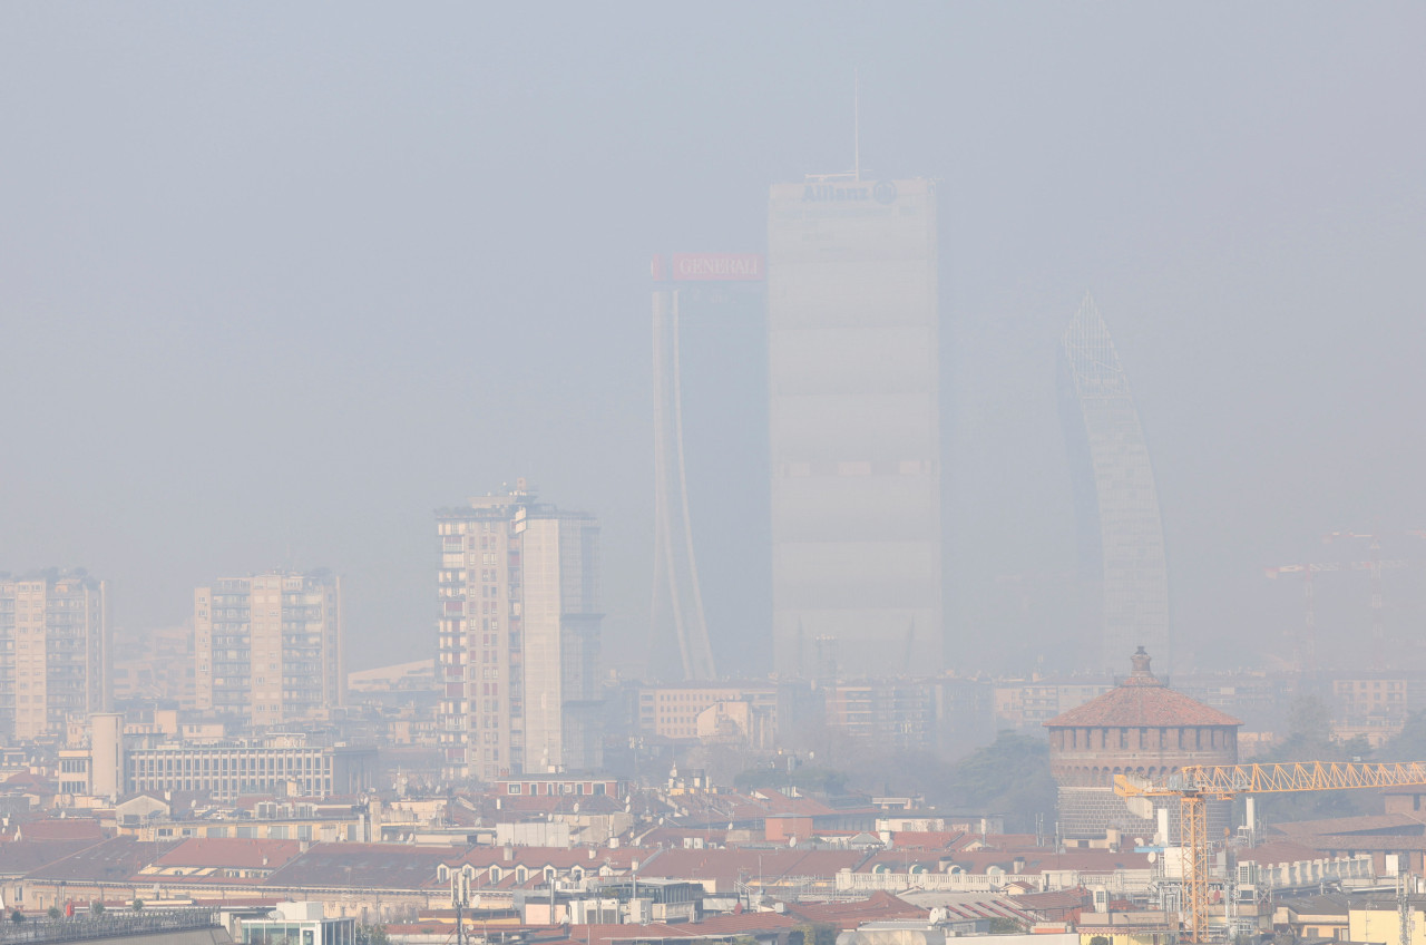
M777 672L938 672L934 184L776 184L767 250Z

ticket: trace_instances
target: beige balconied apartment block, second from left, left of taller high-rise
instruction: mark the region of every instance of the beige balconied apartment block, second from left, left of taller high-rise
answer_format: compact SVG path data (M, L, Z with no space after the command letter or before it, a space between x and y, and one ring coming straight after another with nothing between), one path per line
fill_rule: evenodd
M254 727L318 718L347 701L341 580L271 571L193 597L200 711Z

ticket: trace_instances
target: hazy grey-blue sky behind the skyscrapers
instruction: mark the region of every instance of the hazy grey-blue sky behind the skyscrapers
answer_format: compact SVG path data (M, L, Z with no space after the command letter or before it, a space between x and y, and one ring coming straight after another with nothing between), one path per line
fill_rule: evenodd
M0 570L143 628L325 565L352 665L418 658L432 510L526 475L600 515L627 662L647 257L761 250L770 183L850 166L858 70L863 166L941 181L953 661L1067 650L1089 290L1178 665L1258 662L1301 622L1263 565L1426 528L1423 44L1412 3L0 4ZM1363 630L1365 578L1329 594Z

